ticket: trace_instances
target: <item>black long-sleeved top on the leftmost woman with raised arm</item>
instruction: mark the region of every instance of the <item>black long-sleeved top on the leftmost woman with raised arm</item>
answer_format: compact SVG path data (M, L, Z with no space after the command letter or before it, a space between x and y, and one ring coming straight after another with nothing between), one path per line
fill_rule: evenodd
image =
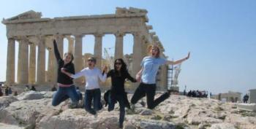
M67 72L71 74L75 74L75 66L72 63L72 60L64 65L64 60L62 60L61 55L59 54L59 50L56 44L56 41L53 40L53 46L54 46L54 54L58 63L58 83L62 85L72 85L73 79L72 77L67 76L66 74L61 72L61 68L64 68Z

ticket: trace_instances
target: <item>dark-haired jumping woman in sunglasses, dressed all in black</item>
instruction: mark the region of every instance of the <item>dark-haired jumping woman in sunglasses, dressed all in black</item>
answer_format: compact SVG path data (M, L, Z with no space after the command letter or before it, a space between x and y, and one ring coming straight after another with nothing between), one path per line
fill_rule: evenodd
M110 70L107 77L111 77L112 87L110 89L110 95L108 95L108 111L112 111L115 108L115 103L118 101L120 106L119 114L119 128L123 128L125 106L129 108L129 101L127 99L127 93L124 90L125 79L129 79L132 82L137 82L136 79L131 77L127 71L127 65L124 60L118 58L115 60L114 69Z

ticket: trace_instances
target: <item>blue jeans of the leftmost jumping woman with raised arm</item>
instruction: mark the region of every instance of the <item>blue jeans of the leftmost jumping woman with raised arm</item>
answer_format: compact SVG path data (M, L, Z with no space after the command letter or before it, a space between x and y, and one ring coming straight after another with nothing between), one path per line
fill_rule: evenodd
M78 103L79 101L79 90L75 90L75 86L72 85L70 87L59 87L56 93L53 95L53 106L58 106L59 103L67 100L67 98L70 98L72 103Z

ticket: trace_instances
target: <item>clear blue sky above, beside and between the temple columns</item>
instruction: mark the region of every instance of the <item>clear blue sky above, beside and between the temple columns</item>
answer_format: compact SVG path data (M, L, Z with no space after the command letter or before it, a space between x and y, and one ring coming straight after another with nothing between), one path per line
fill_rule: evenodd
M169 59L191 58L181 66L180 89L228 90L246 93L256 88L256 1L253 0L90 0L90 1L1 1L0 18L33 9L42 17L101 15L116 7L148 10L148 25L153 26ZM93 50L93 36L83 39L83 52ZM103 47L114 46L114 36L103 39ZM124 37L125 53L132 52L132 36ZM5 80L7 37L0 25L0 81ZM66 49L67 50L67 49ZM113 49L110 50L113 52Z

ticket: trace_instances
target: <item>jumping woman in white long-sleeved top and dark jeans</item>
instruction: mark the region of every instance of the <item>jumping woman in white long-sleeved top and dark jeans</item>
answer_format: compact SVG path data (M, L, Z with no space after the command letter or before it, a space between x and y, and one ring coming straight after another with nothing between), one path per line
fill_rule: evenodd
M107 66L105 66L103 72L101 72L98 68L95 67L96 59L95 58L88 58L88 67L79 71L76 74L70 74L69 72L65 71L65 69L61 69L64 74L67 74L69 77L74 79L78 77L85 77L86 78L86 92L84 98L84 106L87 112L91 114L97 114L97 111L102 109L101 103L101 91L99 89L99 79L102 82L105 82L107 78ZM94 101L94 109L91 108L91 101Z

